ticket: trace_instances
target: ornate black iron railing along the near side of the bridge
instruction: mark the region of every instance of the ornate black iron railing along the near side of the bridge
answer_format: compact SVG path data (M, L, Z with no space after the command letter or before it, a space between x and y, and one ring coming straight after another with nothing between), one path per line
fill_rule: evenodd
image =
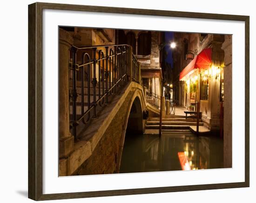
M69 57L70 124L77 139L77 126L96 118L97 108L128 80L128 45L72 46ZM132 61L137 80L138 62L134 56Z

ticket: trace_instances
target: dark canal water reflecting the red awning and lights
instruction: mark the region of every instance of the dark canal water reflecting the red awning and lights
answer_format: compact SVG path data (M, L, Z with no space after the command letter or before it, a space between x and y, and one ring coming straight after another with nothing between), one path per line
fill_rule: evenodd
M120 173L223 168L223 139L190 132L126 134Z

